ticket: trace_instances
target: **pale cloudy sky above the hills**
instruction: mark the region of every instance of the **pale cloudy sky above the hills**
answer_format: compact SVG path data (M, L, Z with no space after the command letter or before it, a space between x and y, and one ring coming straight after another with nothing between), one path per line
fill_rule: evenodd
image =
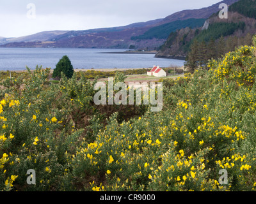
M0 36L129 25L221 0L0 0Z

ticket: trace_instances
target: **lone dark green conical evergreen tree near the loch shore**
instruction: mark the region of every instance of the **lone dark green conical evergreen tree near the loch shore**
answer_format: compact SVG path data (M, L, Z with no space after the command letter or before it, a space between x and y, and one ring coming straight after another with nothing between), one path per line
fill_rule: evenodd
M53 70L52 77L61 77L61 72L63 72L67 78L71 78L74 74L73 66L67 55L64 55L58 64L56 64L56 68Z

